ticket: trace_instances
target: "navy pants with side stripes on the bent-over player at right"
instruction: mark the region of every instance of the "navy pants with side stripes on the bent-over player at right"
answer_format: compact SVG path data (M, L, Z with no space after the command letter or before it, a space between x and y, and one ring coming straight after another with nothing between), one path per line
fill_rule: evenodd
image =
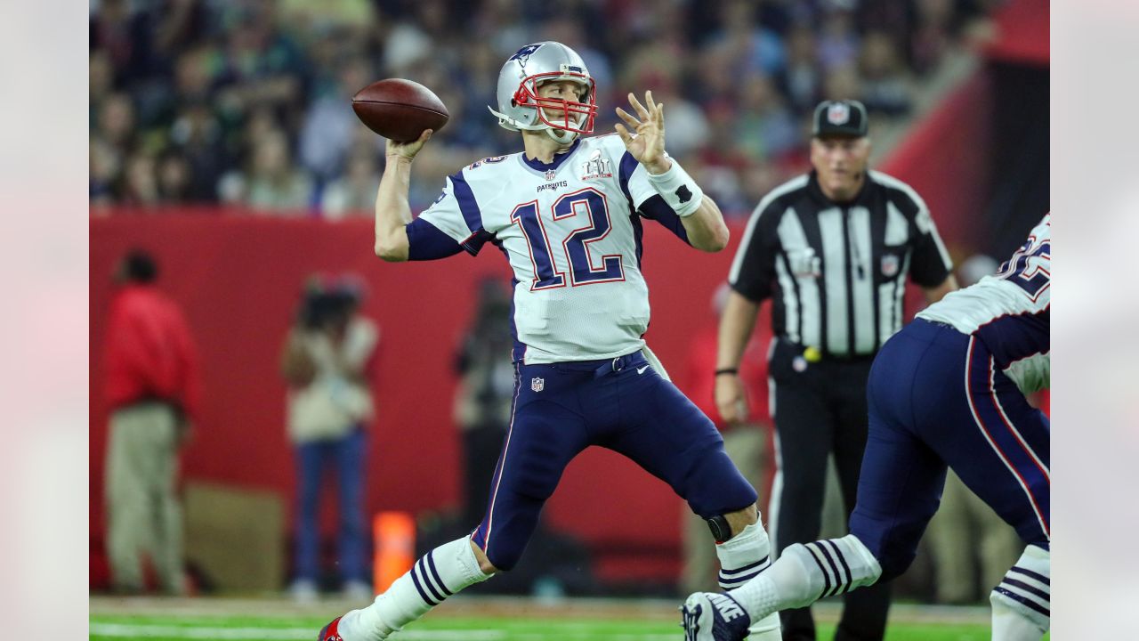
M1049 421L980 339L913 320L875 359L867 400L850 530L882 563L880 581L913 560L947 465L1025 543L1049 546Z

